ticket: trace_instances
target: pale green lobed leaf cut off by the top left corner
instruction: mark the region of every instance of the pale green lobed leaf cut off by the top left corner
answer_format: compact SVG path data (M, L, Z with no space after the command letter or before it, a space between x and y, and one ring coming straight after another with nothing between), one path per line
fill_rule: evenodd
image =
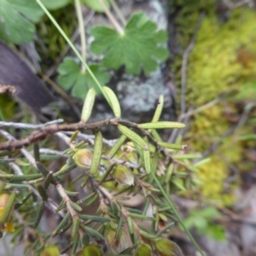
M0 38L21 44L32 41L35 26L44 12L34 0L0 0Z

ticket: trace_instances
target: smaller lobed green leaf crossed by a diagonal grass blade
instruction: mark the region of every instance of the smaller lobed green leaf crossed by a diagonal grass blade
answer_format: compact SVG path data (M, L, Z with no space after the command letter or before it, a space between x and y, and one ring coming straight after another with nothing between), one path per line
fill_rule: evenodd
M108 83L110 75L104 72L104 68L98 65L90 65L90 70L99 80L100 84ZM95 81L86 71L83 73L79 64L71 57L66 57L58 68L58 81L64 89L72 89L72 96L84 99L87 91L94 88L99 92Z

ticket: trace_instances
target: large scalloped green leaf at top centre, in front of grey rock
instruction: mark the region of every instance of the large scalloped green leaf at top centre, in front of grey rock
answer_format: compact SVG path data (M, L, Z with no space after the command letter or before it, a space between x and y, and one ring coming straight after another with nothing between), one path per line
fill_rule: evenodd
M125 65L126 72L131 74L151 73L158 67L158 61L166 60L167 49L158 44L166 42L166 32L156 32L157 26L147 20L146 15L137 13L125 26L123 34L106 26L95 26L90 34L95 38L91 50L100 55L106 53L102 64L118 69Z

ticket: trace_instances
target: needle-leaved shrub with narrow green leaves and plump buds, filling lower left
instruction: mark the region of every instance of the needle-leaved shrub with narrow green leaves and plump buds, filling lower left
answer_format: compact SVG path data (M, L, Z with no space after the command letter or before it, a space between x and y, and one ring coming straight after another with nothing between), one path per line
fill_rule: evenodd
M90 96L94 97L96 94ZM115 99L113 95L110 97L111 106L113 113L119 113L116 112L119 106L117 106L118 102L114 102ZM94 104L88 96L85 101L90 102L92 106ZM87 102L84 102L84 105L88 106ZM160 102L163 103L162 96ZM87 129L96 129L96 131L93 146L79 139L79 131L74 132L68 139L69 148L62 154L59 153L61 158L66 158L67 161L54 173L49 172L47 167L49 163L46 165L41 160L38 143L33 145L35 159L31 155L28 158L29 163L22 160L22 155L16 154L15 150L6 151L6 154L3 152L0 160L3 166L6 166L6 172L0 173L4 181L0 186L2 190L0 199L1 196L3 197L3 200L0 200L2 209L0 225L3 225L1 231L15 231L14 241L26 241L26 252L33 252L36 255L55 255L58 252L70 252L72 255L75 253L102 255L97 244L104 241L109 251L115 255L122 252L131 255L135 250L139 255L138 252L147 248L152 253L156 252L155 255L183 255L174 242L162 237L172 225L172 219L177 218L175 208L171 207L170 201L165 201L166 194L162 186L165 186L167 191L172 191L173 183L175 184L177 178L170 173L172 167L180 168L182 172L183 164L186 163L188 166L189 156L180 152L183 155L176 161L175 158L179 155L177 152L172 159L174 152L170 148L177 148L177 145L162 143L157 135L155 129L184 126L175 122L158 121L162 103L156 108L152 123L137 125L122 119L102 121L102 125L114 125L122 133L119 140L111 146L104 145L100 131L102 125L98 125L99 123L89 126L83 122L79 123L80 126L59 125L57 128L59 131L68 131L68 128L72 131L72 127L81 130L83 127L86 128L86 125ZM131 127L137 127L139 132L132 131ZM52 129L48 128L49 131L54 132ZM37 132L44 133L44 130ZM0 144L0 148L1 146L3 144ZM12 147L15 149L14 144ZM14 170L8 167L9 162L16 166ZM163 162L169 167L164 168ZM30 172L26 171L28 166ZM79 172L75 171L78 166ZM191 165L190 168L193 169L193 166ZM19 170L19 174L15 173L15 170ZM70 181L72 172L77 174ZM183 170L183 172L191 171ZM193 183L193 173L185 175L190 177L190 183ZM49 189L58 192L61 203L53 203L55 197ZM135 200L137 195L144 197L142 211L125 205L127 197ZM96 201L94 215L87 215L86 211ZM37 207L31 207L32 204ZM154 209L153 217L147 214L149 205ZM13 209L16 214L11 220ZM27 214L27 209L31 209L30 214ZM38 228L45 214L44 209L54 210L54 214L59 214L61 217L60 223L56 224L55 230L51 233L44 233ZM138 224L137 219L147 220L150 224L147 226ZM10 221L15 230L8 228ZM20 221L25 225L25 229L19 228ZM131 240L127 239L125 226L129 230ZM26 230L30 230L33 238L26 240L27 236L24 236ZM68 246L66 245L65 248L59 243L53 245L54 236L65 236ZM38 242L42 239L44 239L43 247Z

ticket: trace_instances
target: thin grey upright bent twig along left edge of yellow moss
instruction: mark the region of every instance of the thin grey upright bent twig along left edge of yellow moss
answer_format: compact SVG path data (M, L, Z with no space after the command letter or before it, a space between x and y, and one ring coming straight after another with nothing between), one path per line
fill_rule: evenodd
M191 50L194 48L195 36L199 30L199 27L201 25L201 20L204 17L204 15L205 14L203 12L201 12L199 19L197 20L197 23L195 25L195 32L191 38L189 46L187 49L185 49L185 51L183 53L182 78L181 78L181 114L185 113L185 111L186 111L186 81L187 81L187 65L188 65L188 61L189 61L189 54L190 54Z

